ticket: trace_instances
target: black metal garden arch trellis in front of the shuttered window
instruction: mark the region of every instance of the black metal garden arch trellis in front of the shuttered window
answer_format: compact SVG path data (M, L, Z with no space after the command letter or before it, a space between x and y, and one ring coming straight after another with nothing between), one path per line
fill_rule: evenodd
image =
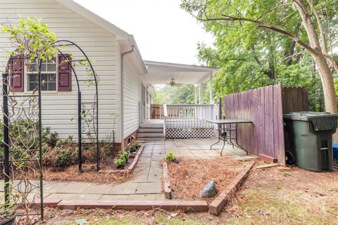
M68 63L70 65L70 68L75 75L75 80L77 83L77 129L78 129L78 166L79 171L82 172L82 145L85 143L83 141L87 140L92 141L92 143L95 143L96 146L96 170L100 169L100 145L99 145L99 91L98 91L98 82L99 79L96 75L96 72L94 71L94 68L92 66L91 61L87 57L87 54L84 53L84 51L75 44L73 41L68 40L60 40L56 41L54 44L54 47L58 49L59 46L73 46L77 48L83 55L82 59L77 60L65 60L63 63ZM58 50L58 52L63 56L63 58L67 58L65 56L65 53L63 53L61 50ZM20 58L25 60L23 56L18 56ZM9 58L7 63L7 68L10 67L13 58ZM75 67L73 66L73 63L85 61L89 65L89 73L91 74L90 79L78 79L77 72L75 70ZM41 65L40 62L40 73L41 73ZM8 72L8 71L6 71ZM39 129L39 143L38 143L38 149L34 149L35 152L38 152L35 154L37 158L28 158L28 159L21 159L23 161L35 161L37 162L38 169L39 169L39 180L38 182L35 181L28 181L28 184L21 184L21 182L18 182L18 188L20 188L20 185L25 185L26 190L27 186L29 188L29 192L36 193L35 196L39 198L40 203L40 212L38 214L41 214L41 219L44 219L44 200L43 200L43 173L42 173L42 80L40 74L37 75L37 94L32 95L16 95L15 93L10 94L11 89L9 89L9 81L8 81L8 73L3 74L3 115L4 115L4 121L3 121L3 129L4 129L4 197L5 197L5 203L10 202L10 195L11 195L11 187L10 187L10 178L11 178L11 119L15 116L18 117L34 117L34 120L38 122L38 129ZM83 102L82 101L82 94L81 94L81 86L80 82L91 82L95 86L95 96L94 101L89 102ZM89 107L89 109L87 108ZM19 113L17 113L19 112ZM85 113L86 115L89 115L91 118L88 120L87 118L84 118L84 111L88 111ZM16 114L15 114L16 113ZM87 128L85 127L86 124L84 124L84 121L91 121L92 122L92 128L89 127L87 123ZM89 133L91 135L87 135L87 138L83 138L82 134L85 133L85 130L89 129ZM90 131L92 129L92 131ZM92 135L94 133L94 136ZM115 137L114 137L115 138ZM29 152L30 153L30 152ZM27 182L26 182L27 183ZM39 189L39 191L34 191ZM37 200L34 199L32 203L37 203ZM30 204L32 204L30 203ZM5 204L6 206L6 204ZM35 214L36 215L36 214Z

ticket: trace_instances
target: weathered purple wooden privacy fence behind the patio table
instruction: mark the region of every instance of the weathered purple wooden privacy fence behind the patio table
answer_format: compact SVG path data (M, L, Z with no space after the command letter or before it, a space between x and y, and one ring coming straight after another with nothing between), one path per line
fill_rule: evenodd
M226 119L253 122L238 125L238 143L249 153L269 155L284 163L283 114L308 111L308 91L275 84L230 94L224 100Z

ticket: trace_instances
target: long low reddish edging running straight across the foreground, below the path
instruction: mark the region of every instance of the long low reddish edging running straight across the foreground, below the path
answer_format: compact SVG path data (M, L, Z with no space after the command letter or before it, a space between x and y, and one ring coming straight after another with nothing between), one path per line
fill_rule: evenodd
M39 207L39 203L32 203L31 207ZM167 211L182 210L184 212L208 212L208 203L204 200L114 200L114 201L63 201L49 200L45 207L58 207L61 210L82 209L113 209L113 210L154 210Z

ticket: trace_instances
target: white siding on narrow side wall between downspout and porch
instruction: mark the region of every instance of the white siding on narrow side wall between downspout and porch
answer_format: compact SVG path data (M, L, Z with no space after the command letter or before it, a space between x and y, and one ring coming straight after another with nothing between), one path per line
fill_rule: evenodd
M128 57L123 61L124 73L124 138L139 128L139 104L141 102L141 79Z

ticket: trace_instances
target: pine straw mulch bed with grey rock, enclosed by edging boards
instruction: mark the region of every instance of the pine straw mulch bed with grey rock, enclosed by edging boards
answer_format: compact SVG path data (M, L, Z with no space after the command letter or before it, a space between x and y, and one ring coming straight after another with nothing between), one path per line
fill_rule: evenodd
M178 164L168 163L168 175L173 198L197 200L209 181L215 181L218 194L239 174L245 162L231 158L180 159ZM217 196L217 195L216 195ZM213 198L208 198L208 202Z

